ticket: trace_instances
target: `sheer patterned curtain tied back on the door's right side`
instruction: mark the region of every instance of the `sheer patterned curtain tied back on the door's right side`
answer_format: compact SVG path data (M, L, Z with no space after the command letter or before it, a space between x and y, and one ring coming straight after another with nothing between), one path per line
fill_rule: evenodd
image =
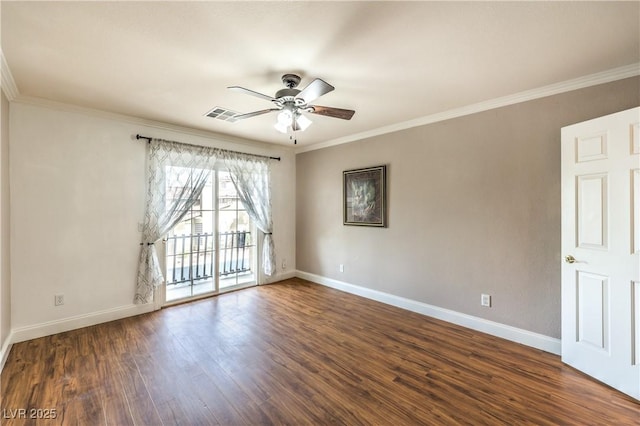
M264 233L262 270L271 276L276 271L271 217L271 166L266 157L222 151L238 197L256 226Z

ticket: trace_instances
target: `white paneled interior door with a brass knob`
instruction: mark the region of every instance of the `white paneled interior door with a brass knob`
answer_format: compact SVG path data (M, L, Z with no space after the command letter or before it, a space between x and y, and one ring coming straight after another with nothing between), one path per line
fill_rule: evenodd
M640 399L640 108L562 129L562 360Z

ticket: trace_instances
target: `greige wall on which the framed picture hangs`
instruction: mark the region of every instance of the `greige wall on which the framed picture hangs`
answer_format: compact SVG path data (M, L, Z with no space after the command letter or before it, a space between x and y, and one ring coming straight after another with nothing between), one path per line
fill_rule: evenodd
M638 105L635 77L298 154L297 269L559 338L560 128ZM388 228L343 226L342 171L380 164Z

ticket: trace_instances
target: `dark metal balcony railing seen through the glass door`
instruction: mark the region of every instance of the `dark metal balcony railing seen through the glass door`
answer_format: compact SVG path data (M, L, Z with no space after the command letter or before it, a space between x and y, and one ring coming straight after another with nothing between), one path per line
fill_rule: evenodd
M251 232L218 234L218 275L251 271ZM173 235L166 239L167 285L213 278L215 247L211 233Z

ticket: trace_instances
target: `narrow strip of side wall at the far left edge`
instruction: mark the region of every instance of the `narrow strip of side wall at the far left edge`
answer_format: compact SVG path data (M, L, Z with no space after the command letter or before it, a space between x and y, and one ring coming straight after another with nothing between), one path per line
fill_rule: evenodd
M9 101L0 90L0 348L11 332L9 262ZM2 355L0 351L0 355ZM0 356L1 358L1 356ZM1 360L0 360L1 363Z

